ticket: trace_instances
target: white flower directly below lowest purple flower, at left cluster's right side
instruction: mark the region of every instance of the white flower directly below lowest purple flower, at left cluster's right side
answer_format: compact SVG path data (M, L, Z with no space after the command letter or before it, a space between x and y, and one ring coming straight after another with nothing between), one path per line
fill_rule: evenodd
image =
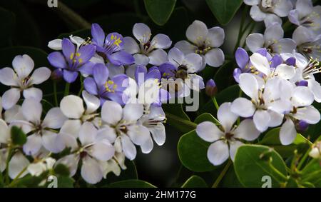
M143 105L140 103L127 103L121 108L119 103L106 101L101 108L101 119L104 123L100 134L107 136L108 140L114 143L116 151L123 152L130 160L133 160L137 153L134 143L141 146L143 153L149 153L153 149L148 128L138 123L141 116Z

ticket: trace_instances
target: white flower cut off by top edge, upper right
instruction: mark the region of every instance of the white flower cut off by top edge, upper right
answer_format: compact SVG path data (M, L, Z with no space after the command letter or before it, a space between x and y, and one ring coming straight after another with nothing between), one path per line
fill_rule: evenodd
M250 16L255 21L263 21L265 26L277 22L282 24L280 17L285 17L292 9L290 0L244 0L244 3L252 6Z

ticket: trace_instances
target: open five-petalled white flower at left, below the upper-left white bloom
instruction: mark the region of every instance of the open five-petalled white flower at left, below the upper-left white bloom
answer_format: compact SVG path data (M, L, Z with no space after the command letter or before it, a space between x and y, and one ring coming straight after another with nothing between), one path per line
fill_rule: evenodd
M54 129L61 128L63 122L66 121L66 116L63 116L60 108L51 108L44 120L41 120L41 103L34 99L25 99L21 106L21 113L24 120L14 120L11 123L21 126L25 133L31 133L23 146L24 153L34 155L41 149L41 146L53 153L63 150L63 139L54 131Z

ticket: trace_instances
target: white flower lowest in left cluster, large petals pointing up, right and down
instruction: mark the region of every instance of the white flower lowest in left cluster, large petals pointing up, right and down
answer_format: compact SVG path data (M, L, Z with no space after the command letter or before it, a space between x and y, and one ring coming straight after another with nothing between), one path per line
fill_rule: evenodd
M68 167L70 176L74 176L79 160L82 161L81 176L88 183L98 183L103 178L101 161L110 160L115 153L115 148L107 138L98 134L98 129L93 123L85 122L78 134L81 143L73 153L60 158L56 165L63 164Z

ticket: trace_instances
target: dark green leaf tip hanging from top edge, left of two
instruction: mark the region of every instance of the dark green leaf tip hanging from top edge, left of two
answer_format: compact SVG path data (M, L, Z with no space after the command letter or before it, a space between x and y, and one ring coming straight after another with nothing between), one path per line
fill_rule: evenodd
M170 18L176 0L144 0L148 16L158 25L163 25Z

